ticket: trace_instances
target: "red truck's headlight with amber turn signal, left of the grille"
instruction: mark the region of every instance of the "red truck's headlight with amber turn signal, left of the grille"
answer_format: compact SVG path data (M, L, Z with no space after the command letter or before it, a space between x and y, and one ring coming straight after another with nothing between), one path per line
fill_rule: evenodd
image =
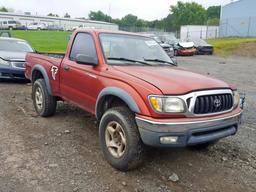
M186 104L180 98L149 96L152 109L159 113L185 113Z

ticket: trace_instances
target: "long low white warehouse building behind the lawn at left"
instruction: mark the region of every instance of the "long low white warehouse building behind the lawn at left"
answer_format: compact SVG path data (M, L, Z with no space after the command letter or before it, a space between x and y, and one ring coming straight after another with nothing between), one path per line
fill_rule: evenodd
M88 28L102 28L110 30L118 30L118 24L108 24L107 22L102 21L92 21L76 18L62 18L62 17L53 17L53 16L41 16L41 15L31 15L30 13L9 13L9 12L0 12L0 21L7 20L16 20L21 23L21 25L26 25L33 22L42 22L46 25L59 25L63 28L70 29L72 27L77 27L81 24Z

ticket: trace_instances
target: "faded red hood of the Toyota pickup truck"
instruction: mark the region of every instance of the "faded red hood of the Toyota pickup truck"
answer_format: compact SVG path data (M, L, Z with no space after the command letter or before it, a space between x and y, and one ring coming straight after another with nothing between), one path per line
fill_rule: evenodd
M232 84L218 78L176 66L113 66L114 69L140 78L163 94L183 94L192 90L231 88Z

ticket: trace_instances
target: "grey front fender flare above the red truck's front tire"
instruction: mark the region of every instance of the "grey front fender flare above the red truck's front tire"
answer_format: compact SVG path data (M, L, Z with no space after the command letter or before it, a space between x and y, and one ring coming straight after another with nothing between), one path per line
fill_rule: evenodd
M104 88L100 94L98 95L95 107L95 115L98 120L102 117L104 113L104 102L106 102L106 98L114 97L123 101L133 112L140 114L140 109L134 100L134 98L125 90L110 86Z

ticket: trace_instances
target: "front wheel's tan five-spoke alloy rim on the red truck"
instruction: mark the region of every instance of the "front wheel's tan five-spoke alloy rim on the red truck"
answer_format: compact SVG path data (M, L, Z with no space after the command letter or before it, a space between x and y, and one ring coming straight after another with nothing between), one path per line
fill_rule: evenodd
M118 122L112 121L107 125L105 140L109 152L114 157L120 158L124 155L126 149L126 138L124 130Z

